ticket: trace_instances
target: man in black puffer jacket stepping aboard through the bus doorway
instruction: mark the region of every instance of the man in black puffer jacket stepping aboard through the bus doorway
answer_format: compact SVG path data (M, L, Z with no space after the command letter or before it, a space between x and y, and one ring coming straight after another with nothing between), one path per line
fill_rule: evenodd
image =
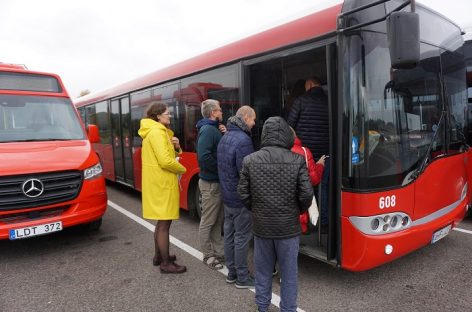
M329 154L328 97L317 77L305 82L304 95L298 97L290 111L287 122L295 130L303 145L307 146L315 161ZM321 231L328 230L328 182L330 161L326 159L321 179Z

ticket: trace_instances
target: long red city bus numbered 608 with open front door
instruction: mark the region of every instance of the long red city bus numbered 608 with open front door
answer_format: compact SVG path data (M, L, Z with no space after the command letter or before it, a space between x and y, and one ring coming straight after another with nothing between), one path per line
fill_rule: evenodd
M84 120L99 127L105 177L140 189L139 121L159 99L188 169L180 206L198 213L200 102L220 100L225 118L251 105L258 148L264 121L283 116L296 82L316 75L329 98L329 228L302 235L300 252L362 271L437 242L469 200L463 40L457 25L421 5L411 13L409 3L346 0L78 99ZM421 37L393 36L391 16L413 16ZM417 54L401 55L414 46Z

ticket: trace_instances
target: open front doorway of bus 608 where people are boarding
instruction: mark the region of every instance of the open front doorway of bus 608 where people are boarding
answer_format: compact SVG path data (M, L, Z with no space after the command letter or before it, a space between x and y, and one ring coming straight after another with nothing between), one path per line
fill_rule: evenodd
M256 149L260 147L260 135L267 118L282 116L288 118L295 99L303 95L305 80L311 76L317 76L322 80L322 87L330 99L329 105L334 105L333 92L335 86L335 66L330 65L336 60L334 38L326 45L326 42L311 46L293 48L279 54L268 55L254 60L246 61L243 66L244 90L243 101L249 103L257 114L256 126L253 128L253 138ZM333 116L330 109L330 120ZM330 122L330 128L332 127ZM330 135L332 138L332 135ZM331 145L333 144L330 140ZM332 150L332 148L330 149ZM333 156L333 155L331 155ZM316 161L316 160L315 160ZM300 238L300 252L308 256L337 264L338 254L338 209L337 201L333 199L335 184L330 178L328 211L320 213L328 214L329 231L321 233L318 227L309 226L307 235ZM338 187L339 188L339 187ZM320 199L318 189L315 189L318 206ZM319 223L320 221L318 221ZM323 229L324 230L324 229Z

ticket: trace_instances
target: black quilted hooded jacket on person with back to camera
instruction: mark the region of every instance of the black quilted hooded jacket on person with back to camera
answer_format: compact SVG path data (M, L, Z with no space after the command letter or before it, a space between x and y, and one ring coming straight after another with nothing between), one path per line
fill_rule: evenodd
M264 123L261 150L244 158L238 193L252 210L254 235L291 238L300 235L299 215L313 198L305 159L290 151L294 136L281 117Z

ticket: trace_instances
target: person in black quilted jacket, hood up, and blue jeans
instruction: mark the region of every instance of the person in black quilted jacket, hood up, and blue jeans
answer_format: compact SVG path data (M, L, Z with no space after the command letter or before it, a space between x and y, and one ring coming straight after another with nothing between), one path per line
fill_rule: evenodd
M270 117L262 129L261 150L246 156L241 170L238 193L252 211L259 311L270 305L276 260L282 277L280 310L297 309L299 215L310 206L313 187L305 159L290 151L293 142L287 122Z

